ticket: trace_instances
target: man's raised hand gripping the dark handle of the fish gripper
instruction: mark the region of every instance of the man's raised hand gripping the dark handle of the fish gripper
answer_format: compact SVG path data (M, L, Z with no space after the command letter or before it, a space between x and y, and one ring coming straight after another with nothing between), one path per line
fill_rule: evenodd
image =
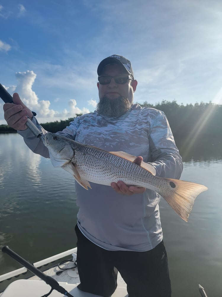
M3 105L4 118L7 124L15 130L25 130L27 126L28 117L33 118L33 113L28 107L21 101L17 93L13 94L14 103L5 103Z

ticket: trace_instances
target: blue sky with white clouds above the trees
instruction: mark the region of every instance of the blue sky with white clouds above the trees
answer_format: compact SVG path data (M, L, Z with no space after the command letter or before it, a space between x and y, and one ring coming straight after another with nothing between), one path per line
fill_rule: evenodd
M222 104L222 1L0 0L0 83L40 123L94 111L113 54L131 61L134 102Z

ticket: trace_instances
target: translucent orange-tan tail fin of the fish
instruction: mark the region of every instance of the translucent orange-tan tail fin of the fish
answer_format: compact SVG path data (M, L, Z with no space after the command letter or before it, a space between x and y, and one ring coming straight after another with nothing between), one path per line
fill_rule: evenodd
M170 194L159 193L173 210L186 222L194 206L197 196L208 188L189 181L168 178L171 184Z

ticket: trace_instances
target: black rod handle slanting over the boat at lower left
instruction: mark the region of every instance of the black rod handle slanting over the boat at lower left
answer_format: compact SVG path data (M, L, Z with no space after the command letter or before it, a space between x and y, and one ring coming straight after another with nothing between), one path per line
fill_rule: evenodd
M8 254L10 257L15 259L18 263L22 264L25 268L27 268L29 271L31 271L33 274L37 275L40 279L44 280L47 285L50 285L53 290L58 291L59 293L68 296L73 297L70 293L68 293L63 287L59 285L59 283L53 279L52 277L49 277L48 275L44 274L42 271L40 271L38 268L33 266L31 263L23 259L21 256L17 255L15 252L13 252L11 249L9 249L8 246L4 246L1 249L2 252Z

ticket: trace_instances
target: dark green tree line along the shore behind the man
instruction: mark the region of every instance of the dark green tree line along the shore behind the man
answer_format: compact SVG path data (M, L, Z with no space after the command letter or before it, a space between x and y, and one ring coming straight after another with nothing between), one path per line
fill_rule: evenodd
M192 155L194 159L205 158L209 154L214 157L222 156L222 105L195 103L178 105L163 100L155 105L145 101L141 106L162 110L170 124L173 136L183 159ZM76 116L80 116L77 114ZM73 118L41 124L50 132L57 132L69 125ZM7 125L0 125L0 133L13 133L16 130Z

